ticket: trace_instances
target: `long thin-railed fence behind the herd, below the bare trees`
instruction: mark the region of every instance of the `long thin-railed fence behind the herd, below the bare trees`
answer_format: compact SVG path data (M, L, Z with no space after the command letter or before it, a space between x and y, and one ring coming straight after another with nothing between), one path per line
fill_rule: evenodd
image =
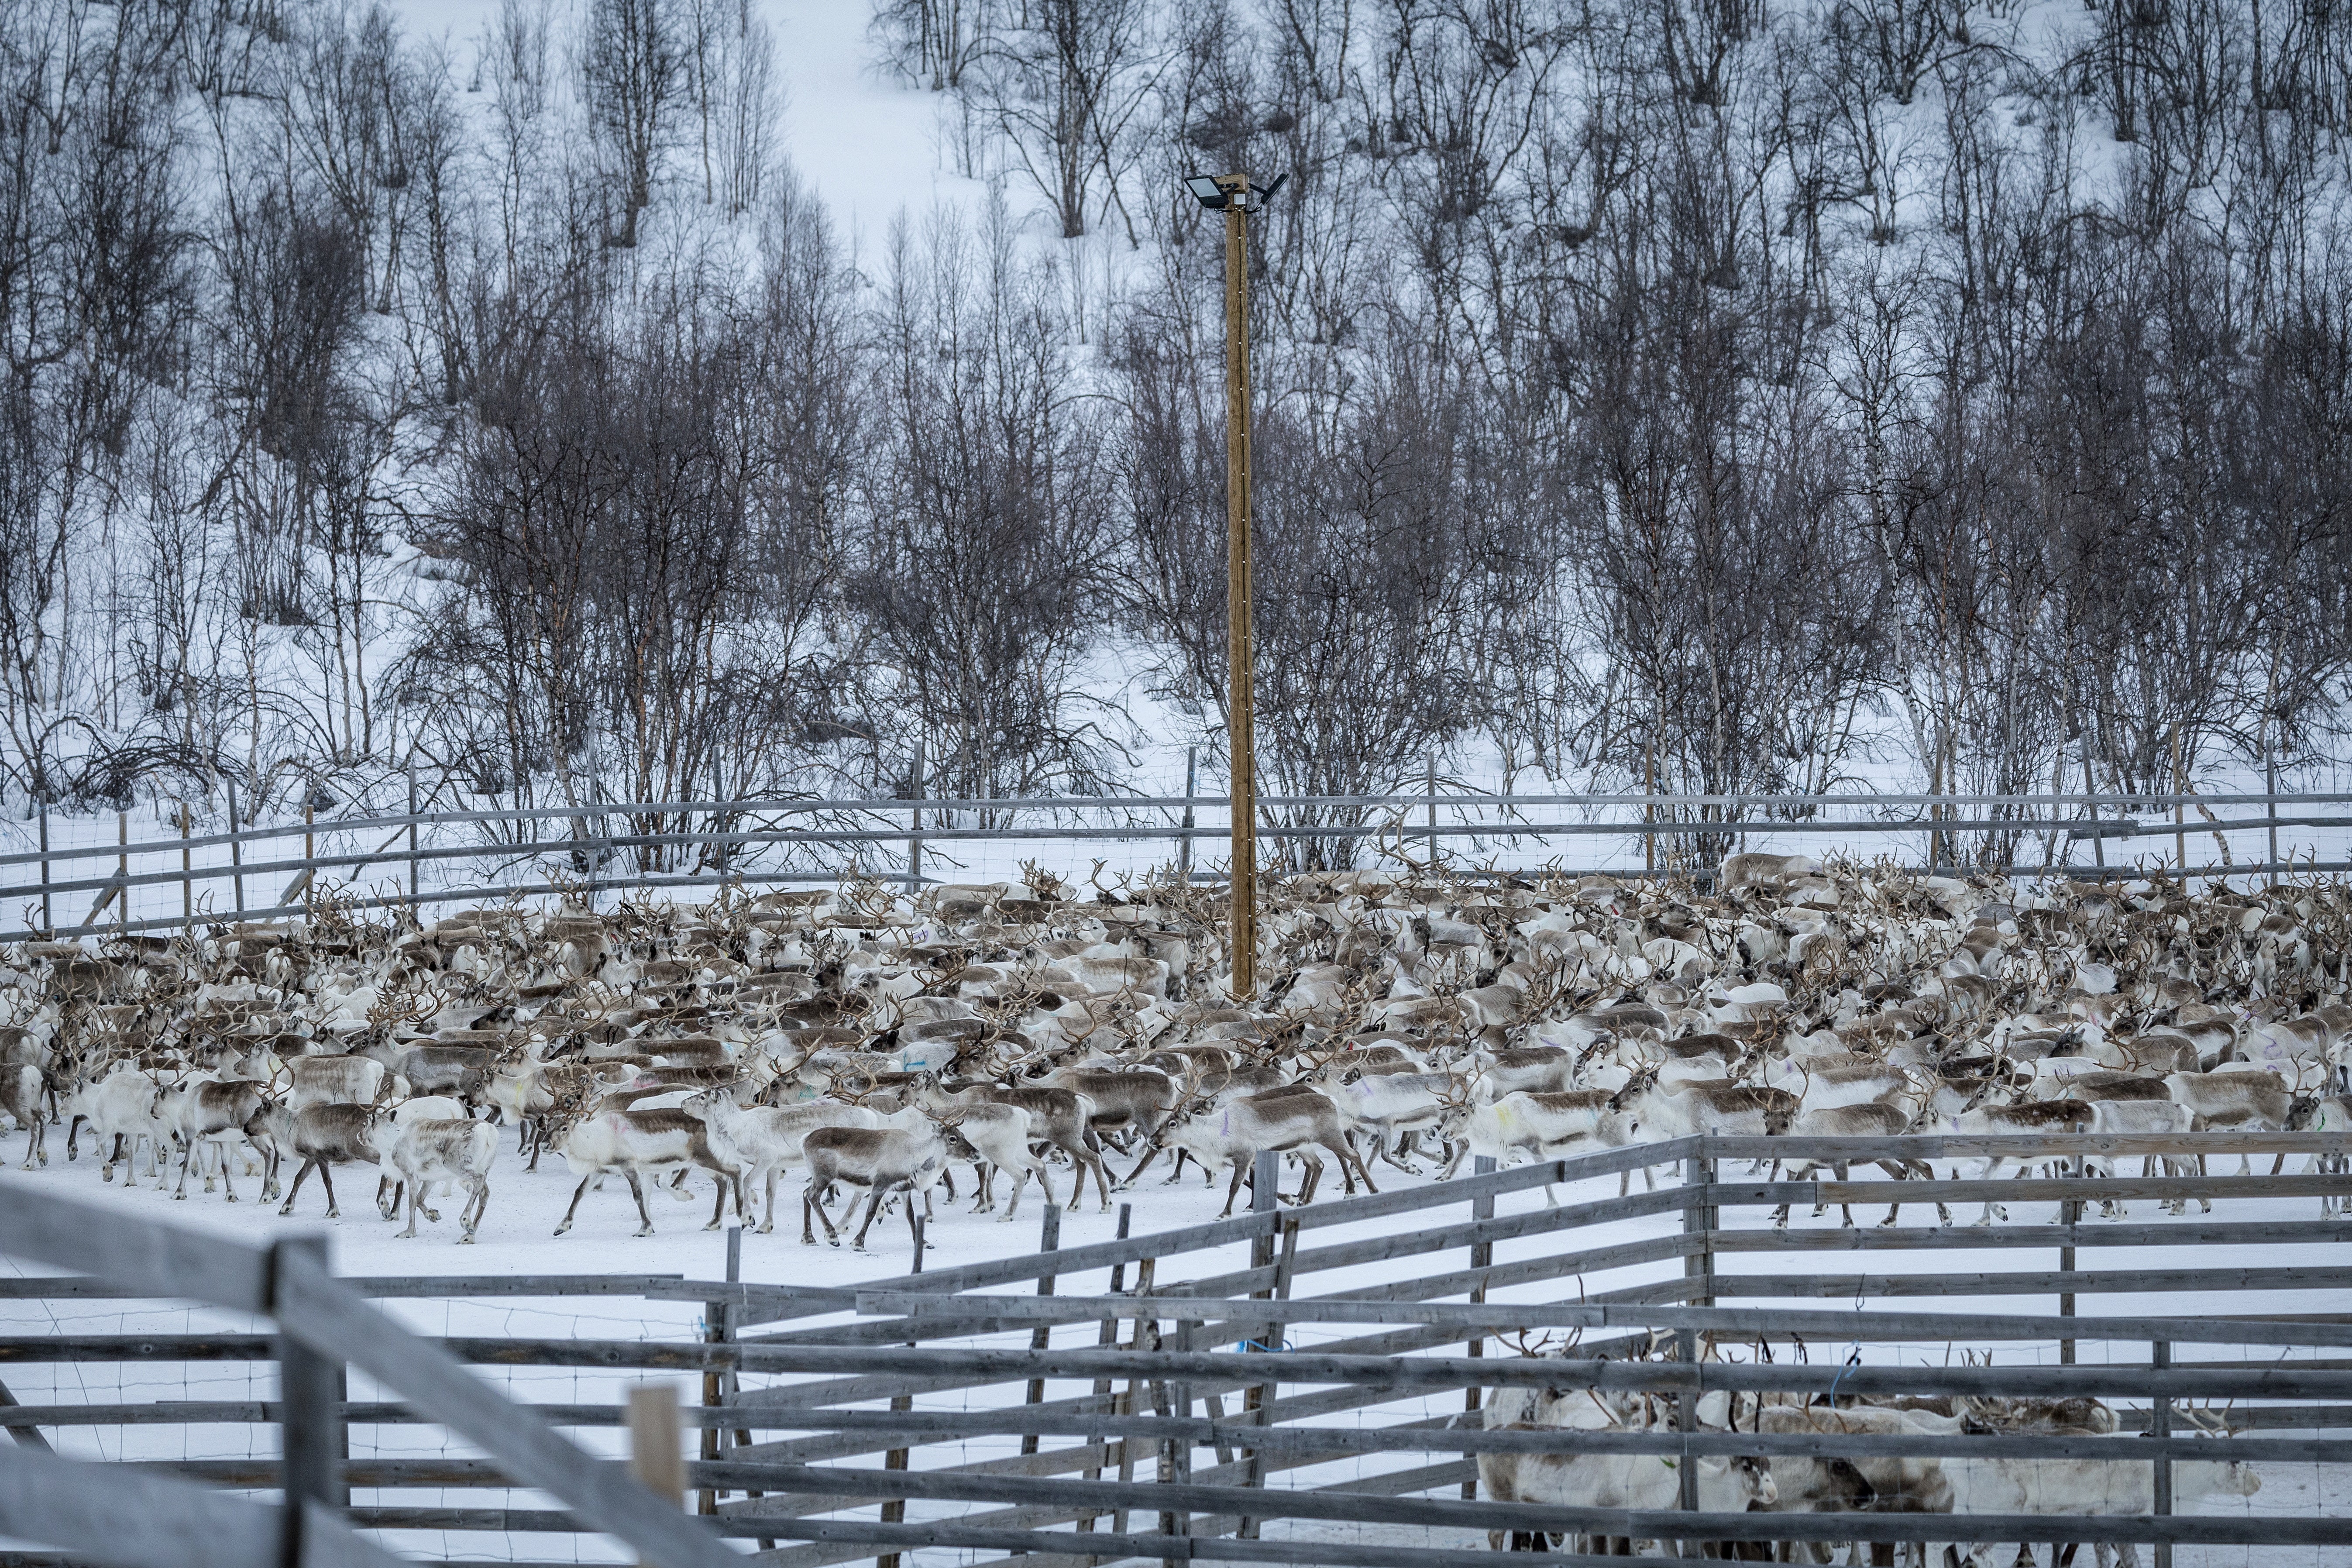
M1018 879L1025 856L1084 853L1112 877L1221 882L1200 842L1230 837L1228 802L680 799L510 811L409 811L172 835L118 813L111 835L52 842L40 811L26 849L0 853L0 943L78 931L167 931L198 919L691 886L898 886ZM230 797L233 799L233 797ZM1268 877L1348 860L1442 860L1461 875L1684 870L1724 853L1886 856L1924 870L2082 877L2281 877L2352 870L2352 795L1423 795L1263 797ZM162 825L158 820L158 825ZM87 827L87 823L78 823ZM2281 837L2284 835L2284 837ZM1973 839L1973 849L1969 842ZM301 853L289 853L294 844ZM2194 849L2194 856L2192 856ZM1992 853L1997 851L1997 853ZM108 865L108 860L113 865Z

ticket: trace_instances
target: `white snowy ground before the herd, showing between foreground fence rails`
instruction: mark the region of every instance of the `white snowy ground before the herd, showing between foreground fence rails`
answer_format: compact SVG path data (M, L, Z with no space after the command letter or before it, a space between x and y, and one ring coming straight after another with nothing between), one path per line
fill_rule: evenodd
M621 1274L659 1274L677 1272L691 1279L715 1279L722 1274L724 1262L724 1239L715 1232L703 1229L703 1220L710 1213L710 1190L699 1185L694 1201L673 1201L656 1197L654 1220L659 1234L647 1239L635 1239L635 1211L628 1201L626 1190L619 1185L604 1192L590 1192L581 1206L579 1222L572 1234L553 1237L557 1218L572 1197L572 1178L562 1173L560 1159L548 1157L536 1175L524 1175L520 1161L515 1161L513 1150L506 1150L501 1166L494 1173L492 1208L482 1227L482 1241L477 1246L459 1248L454 1246L456 1227L452 1211L445 1208L445 1220L437 1227L423 1227L416 1241L400 1241L393 1234L393 1225L376 1218L372 1206L374 1178L365 1171L346 1171L339 1182L339 1197L343 1206L341 1220L322 1220L322 1194L318 1187L306 1187L299 1213L289 1220L278 1218L275 1206L263 1208L254 1201L254 1192L245 1190L245 1201L228 1206L221 1197L195 1197L183 1204L174 1204L167 1194L155 1192L151 1185L141 1182L136 1190L125 1190L120 1185L101 1185L96 1180L94 1166L87 1157L78 1164L64 1161L61 1140L52 1140L52 1164L47 1171L35 1173L12 1173L12 1182L31 1182L47 1192L71 1194L80 1199L94 1199L113 1208L139 1213L146 1218L165 1218L172 1222L183 1222L202 1229L214 1229L221 1234L266 1241L282 1234L318 1232L325 1229L332 1237L336 1267L346 1274L503 1274L503 1272L529 1272L529 1274L593 1274L593 1272L621 1272ZM1390 1173L1395 1175L1395 1173ZM1061 1180L1061 1178L1058 1178ZM1411 1180L1395 1175L1397 1182ZM1428 1180L1428 1178L1421 1178ZM1390 1180L1383 1178L1383 1187ZM1576 1199L1599 1199L1613 1194L1613 1182L1597 1180L1583 1182L1581 1190L1564 1190L1559 1197L1564 1201ZM797 1197L786 1185L788 1204ZM1145 1182L1124 1194L1134 1201L1134 1229L1136 1234L1174 1229L1183 1225L1195 1225L1216 1218L1216 1208L1223 1201L1223 1185L1218 1190L1204 1190L1188 1178L1181 1187L1160 1185L1157 1173L1145 1175ZM1519 1192L1498 1199L1501 1213L1524 1213L1543 1204L1541 1190ZM790 1204L797 1206L797 1204ZM985 1258L997 1258L1014 1251L1030 1251L1037 1244L1037 1220L1040 1208L1035 1206L1035 1194L1023 1206L1023 1215L1011 1225L993 1222L983 1215L969 1215L962 1204L943 1204L941 1218L931 1225L931 1253L929 1267L955 1267L964 1262L978 1262ZM2256 1220L2256 1218L2296 1218L2305 1220L2312 1215L2312 1199L2274 1199L2274 1201L2234 1201L2216 1208L2216 1218L2232 1220ZM2013 1222L2034 1225L2049 1222L2049 1206L2013 1206ZM1383 1234L1397 1229L1421 1229L1437 1227L1461 1218L1454 1206L1435 1206L1411 1215L1399 1215L1390 1220L1376 1220L1367 1225L1334 1227L1327 1232L1315 1232L1315 1244L1343 1241L1364 1234ZM1867 1222L1875 1213L1865 1213ZM1912 1215L1907 1215L1912 1218ZM1917 1218L1926 1218L1922 1211ZM2143 1204L2136 1220L2154 1220L2152 1206ZM901 1218L884 1215L875 1225L875 1246L868 1255L851 1253L847 1248L830 1246L802 1246L797 1239L797 1215L786 1218L776 1234L760 1237L748 1234L743 1241L743 1276L750 1281L774 1281L774 1284L802 1284L802 1286L854 1286L875 1279L889 1279L906 1272L908 1265L908 1232ZM1757 1213L1733 1213L1731 1225L1762 1225ZM1795 1225L1806 1225L1804 1211L1797 1211ZM1835 1225L1837 1211L1830 1211L1828 1220L1818 1225ZM1531 1258L1564 1248L1599 1246L1609 1241L1625 1241L1639 1234L1658 1234L1663 1229L1677 1227L1675 1215L1653 1220L1630 1220L1616 1225L1597 1225L1571 1232L1566 1237L1536 1237L1526 1241L1505 1241L1496 1246L1496 1260L1510 1262L1515 1258ZM1087 1208L1065 1215L1063 1220L1063 1246L1082 1246L1089 1241L1108 1241L1115 1234L1115 1213L1101 1213L1091 1201ZM2199 1267L2277 1267L2281 1262L2300 1262L2310 1267L2340 1267L2352 1262L2352 1229L2347 1229L2347 1246L2312 1246L2298 1248L2293 1255L2281 1255L2277 1248L2086 1248L2082 1265L2089 1269L2129 1269L2133 1265L2199 1265ZM1425 1258L1388 1262L1376 1267L1336 1269L1329 1274L1315 1274L1301 1281L1298 1295L1350 1295L1371 1284L1395 1281L1406 1274L1439 1272L1449 1267L1461 1267L1463 1255L1458 1251L1430 1253ZM2051 1267L2053 1255L2042 1251L2030 1253L1997 1253L1997 1251L1957 1251L1957 1253L1828 1253L1828 1255L1757 1255L1738 1253L1724 1255L1719 1267L1724 1272L1832 1272L1846 1267L1870 1267L1872 1272L1886 1274L1926 1274L1926 1276L1966 1276L1987 1269L2032 1269ZM1223 1272L1228 1267L1244 1267L1244 1248L1232 1246L1218 1253L1188 1253L1181 1260L1162 1265L1160 1284L1174 1284L1185 1276L1207 1276L1211 1272ZM12 1265L19 1267L21 1265ZM1402 1274L1399 1274L1402 1272ZM1630 1284L1635 1279L1665 1276L1668 1272L1679 1272L1679 1265L1646 1265L1637 1269L1621 1269L1609 1276L1595 1279L1564 1279L1538 1286L1505 1288L1496 1293L1496 1300L1578 1300L1585 1293L1604 1291L1613 1286ZM1131 1281L1131 1274L1129 1274ZM1080 1295L1098 1293L1108 1286L1103 1272L1063 1276L1058 1281L1058 1293ZM1021 1293L1021 1286L1007 1286ZM386 1300L388 1312L407 1321L412 1328L433 1335L543 1335L543 1338L619 1338L619 1340L649 1340L649 1338L699 1338L699 1307L673 1305L673 1302L644 1302L637 1298L564 1298L564 1300L473 1300L473 1302L419 1302L419 1300ZM2013 1312L2051 1312L2053 1302L2049 1298L2018 1298L2018 1300L1940 1300L1940 1298L1889 1298L1889 1300L1809 1300L1790 1302L1806 1307L1856 1307L1856 1309L1910 1309L1910 1312L1933 1312L1940 1307L1950 1309L2013 1309ZM2343 1298L2336 1291L2307 1288L2307 1291L2274 1291L2263 1295L2086 1295L2082 1298L2084 1314L2246 1314L2246 1312L2340 1312ZM228 1314L202 1312L176 1305L148 1305L148 1302L106 1302L106 1305L80 1305L80 1302L0 1302L0 1321L7 1321L7 1333L54 1333L56 1328L73 1328L80 1333L191 1333L205 1326L242 1326ZM1298 1326L1291 1331L1294 1347L1308 1347L1315 1342L1327 1342L1334 1338L1362 1333L1362 1328L1343 1326ZM1065 1345L1091 1345L1094 1326L1075 1326L1058 1331L1058 1340ZM1865 1361L1886 1361L1893 1356L1917 1359L1924 1347L1884 1347L1884 1345L1832 1345L1818 1342L1811 1347L1813 1361L1844 1359L1858 1349ZM1985 1349L1955 1345L1952 1356L1957 1359L1962 1349ZM2053 1366L2058 1361L2058 1347L2053 1342L2013 1342L1990 1347L1999 1361L2039 1363ZM1733 1352L1740 1354L1740 1352ZM2227 1347L2227 1335L2220 1333L2211 1347L2176 1345L2176 1359L2225 1359L2234 1356ZM2256 1352L2260 1359L2272 1359L2279 1352ZM2305 1356L2307 1352L2286 1352L2291 1356ZM2105 1345L2084 1342L2082 1361L2096 1363L2105 1359L2145 1363L2147 1349L2143 1345ZM503 1371L489 1368L489 1378L510 1387L517 1396L536 1401L619 1401L621 1389L630 1378L607 1375L595 1371ZM24 1403L68 1403L68 1401L111 1401L111 1399L266 1399L270 1392L270 1368L268 1363L21 1363L12 1366L7 1373L9 1392ZM1065 1396L1082 1392L1084 1385L1049 1387L1047 1396ZM699 1392L687 1387L684 1394L696 1399ZM353 1396L365 1399L369 1392L355 1387ZM934 1396L920 1396L917 1408L941 1408L957 1410L971 1408L976 1401L988 1401L990 1396L1018 1396L997 1392L948 1392ZM1378 1410L1348 1413L1329 1418L1336 1425L1350 1422L1378 1422L1392 1425L1397 1420L1411 1420L1416 1415L1446 1415L1461 1408L1458 1394L1435 1394L1425 1399L1392 1401ZM59 1446L66 1453L80 1453L89 1458L238 1458L249 1453L266 1453L268 1429L266 1427L160 1427L160 1429L66 1429L59 1432ZM590 1446L602 1450L616 1450L619 1434L612 1429L586 1429L579 1434ZM129 1448L125 1448L129 1443ZM259 1446L259 1448L256 1448ZM988 1458L993 1453L1014 1450L1016 1439L971 1439L960 1446L941 1446L924 1453L917 1467L967 1462ZM1047 1446L1058 1446L1056 1439L1047 1439ZM437 1429L430 1427L362 1427L353 1434L355 1458L367 1455L440 1455L440 1453L466 1453L463 1446L449 1443ZM1329 1465L1317 1465L1312 1469L1284 1472L1277 1476L1282 1486L1334 1486L1350 1479L1362 1479L1390 1469L1411 1469L1430 1462L1439 1462L1442 1455L1374 1455L1362 1460L1338 1460ZM381 1502L402 1505L447 1505L447 1507L487 1507L494 1505L499 1493L442 1493L442 1490L407 1490L397 1495L381 1495ZM515 1495L513 1502L529 1507L524 1495ZM2199 1512L2246 1512L2246 1514L2310 1514L2321 1509L2328 1514L2343 1514L2352 1509L2352 1474L2345 1467L2288 1467L2288 1465L2265 1465L2263 1467L2263 1490L2251 1500L2206 1500ZM936 1505L938 1514L960 1512L960 1505ZM913 1516L922 1519L924 1507L913 1505ZM1444 1540L1444 1533L1428 1530L1404 1530L1388 1526L1319 1526L1319 1523L1291 1523L1279 1533L1315 1533L1315 1535L1341 1535L1345 1540L1381 1542L1381 1544L1479 1544L1472 1540ZM564 1561L574 1554L586 1554L595 1559L595 1542L574 1542L572 1537L487 1537L487 1535L437 1535L421 1533L395 1540L395 1544L416 1549L433 1556L494 1556L515 1561ZM924 1552L927 1563L946 1563L953 1554ZM2176 1559L2183 1568L2220 1568L2220 1566L2246 1566L2246 1568L2284 1568L2288 1563L2310 1563L2312 1568L2331 1568L2347 1561L2345 1554L2328 1549L2183 1549Z

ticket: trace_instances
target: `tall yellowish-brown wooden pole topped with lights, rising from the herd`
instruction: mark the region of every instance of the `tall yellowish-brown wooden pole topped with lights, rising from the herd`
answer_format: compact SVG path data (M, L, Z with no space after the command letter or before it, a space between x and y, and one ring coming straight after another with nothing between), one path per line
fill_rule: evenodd
M1190 174L1185 190L1225 214L1225 738L1232 752L1232 973L1235 999L1258 994L1258 780L1251 722L1249 632L1249 214L1282 190L1247 174Z

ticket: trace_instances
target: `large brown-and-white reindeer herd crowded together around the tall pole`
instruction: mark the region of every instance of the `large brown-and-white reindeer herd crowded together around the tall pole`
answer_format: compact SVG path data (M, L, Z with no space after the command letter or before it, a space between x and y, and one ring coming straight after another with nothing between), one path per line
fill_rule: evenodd
M713 1227L731 1206L771 1232L795 1175L802 1241L858 1248L894 1204L915 1229L960 1171L976 1213L1011 1220L1033 1178L1108 1208L1167 1159L1167 1180L1223 1178L1230 1213L1268 1150L1305 1204L1327 1166L1352 1194L1376 1168L1698 1131L2352 1124L2343 884L2190 896L1783 856L1733 856L1708 889L1329 872L1270 896L1275 980L1244 1001L1216 896L1030 875L433 924L327 903L26 943L0 950L0 1110L26 1166L64 1126L103 1180L143 1161L174 1199L195 1178L238 1201L245 1171L292 1213L315 1173L329 1215L334 1173L374 1168L405 1237L463 1194L461 1241L508 1147L579 1178L557 1234L607 1178L649 1234L647 1187L684 1197L696 1173Z

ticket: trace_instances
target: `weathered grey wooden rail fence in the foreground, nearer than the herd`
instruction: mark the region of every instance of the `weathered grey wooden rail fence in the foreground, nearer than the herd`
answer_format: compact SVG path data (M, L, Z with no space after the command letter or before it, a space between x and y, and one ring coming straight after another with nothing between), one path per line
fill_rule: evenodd
M684 1413L699 1429L684 1483L696 1488L701 1528L753 1542L753 1561L771 1568L858 1559L898 1568L927 1549L1007 1566L1018 1556L1030 1568L1122 1559L1468 1568L1491 1561L1477 1552L1486 1533L1616 1535L1691 1552L1712 1542L1724 1554L1738 1549L1731 1542L1867 1542L1875 1561L1891 1561L1903 1542L1955 1540L2154 1544L2159 1563L2223 1547L2343 1561L2352 1549L2352 1512L2343 1507L2352 1441L2328 1434L2352 1427L2352 1314L2310 1305L2345 1302L2352 1227L2284 1208L2352 1197L2340 1164L2300 1168L2303 1157L2347 1150L2345 1133L1703 1135L1305 1208L1272 1204L1277 1161L1261 1157L1256 1206L1230 1220L1129 1234L1122 1211L1117 1239L1061 1246L1063 1213L1047 1208L1037 1253L931 1272L917 1265L854 1288L746 1284L741 1232L729 1237L734 1279L717 1281L334 1281L310 1265L289 1274L282 1262L273 1276L261 1253L219 1265L160 1227L139 1241L158 1267L118 1284L127 1258L120 1237L129 1232L94 1237L80 1229L85 1211L49 1213L19 1204L21 1190L12 1190L0 1204L0 1246L59 1267L106 1265L108 1276L0 1281L0 1302L26 1302L14 1309L19 1333L0 1338L0 1366L16 1385L0 1401L0 1425L59 1441L113 1429L120 1455L151 1458L118 1467L136 1476L122 1486L172 1486L183 1509L195 1507L186 1483L282 1486L327 1507L348 1497L341 1519L350 1528L383 1530L386 1544L430 1561L539 1561L534 1549L543 1561L595 1561L609 1552L595 1533L644 1528L635 1514L616 1516L602 1483L567 1483L581 1465L567 1458L567 1472L555 1462L548 1446L557 1439L541 1432L527 1443L494 1394L452 1387L440 1371L449 1361L503 1380L543 1422L583 1432L626 1420L626 1380L699 1378L701 1401ZM2002 1154L2058 1175L1797 1182L1752 1171L1766 1159L1846 1168L1898 1154ZM2249 1173L2129 1173L2129 1161L2150 1157L2180 1168L2244 1161ZM1658 1161L1679 1180L1625 1197L1609 1197L1599 1180L1644 1180L1637 1173ZM2286 1164L2298 1168L2277 1168ZM1569 1185L1566 1204L1550 1201L1555 1185ZM1915 1220L1769 1222L1773 1206L1813 1199L1900 1201ZM2169 1199L2213 1211L2089 1213L2103 1201ZM1957 1213L1957 1225L1919 1222L1936 1201L2039 1204L2053 1206L2053 1218L1971 1227ZM71 1241L52 1234L61 1225L75 1227ZM223 1267L233 1281L214 1284ZM287 1295L289 1276L296 1298ZM275 1309L278 1333L92 1331L96 1298L136 1305L155 1295ZM358 1333L367 1312L358 1295L407 1298L400 1305L412 1319L466 1302L510 1319L550 1302L579 1316L569 1335L452 1333L437 1345L388 1335L376 1345ZM666 1338L597 1335L597 1324L626 1319L621 1298L637 1298L637 1314L691 1305L699 1316L673 1319ZM2084 1298L2126 1309L2077 1312ZM73 1309L49 1309L47 1326L28 1316L33 1305L59 1300ZM1924 1305L1903 1307L1907 1300ZM1531 1345L1529 1335L1550 1342ZM296 1352L350 1361L383 1392L353 1389L353 1399L303 1415L303 1401L332 1387L334 1368L301 1373L285 1361ZM174 1366L270 1359L285 1366L275 1401L71 1396L101 1363L136 1363L153 1385ZM428 1359L437 1368L430 1387L414 1371ZM1482 1392L1505 1387L1632 1389L1661 1420L1595 1432L1484 1429ZM541 1396L529 1399L534 1392ZM1828 1406L1863 1394L2082 1396L2107 1401L2119 1432L1724 1432L1700 1422L1717 1394ZM506 1425L485 1420L492 1408ZM2227 1436L2206 1432L2216 1420ZM282 1422L296 1465L280 1467L266 1443L240 1443L238 1422ZM158 1439L172 1432L179 1443ZM313 1448L322 1432L334 1441ZM459 1450L447 1432L473 1436L480 1453ZM207 1441L230 1458L212 1458ZM301 1460L315 1453L329 1455L322 1469ZM1675 1483L1663 1502L1653 1497L1661 1507L1639 1509L1477 1495L1479 1455L1512 1453L1653 1455ZM1844 1514L1703 1507L1708 1460L1726 1455L1936 1455L1947 1472L2107 1460L2122 1481L2105 1509L1966 1519L1905 1512L1903 1497ZM2211 1460L2253 1467L2265 1481L2260 1507L2239 1495L2220 1512L2176 1507L2199 1502L2176 1490L2180 1467ZM45 1481L64 1465L28 1453L0 1460L0 1533L94 1552L59 1526L61 1505L40 1512L12 1479ZM92 1476L94 1467L73 1474ZM75 1486L75 1495L96 1495L101 1483ZM261 1561L273 1526L261 1514L238 1537L252 1552L223 1547L176 1561ZM652 1535L628 1540L644 1561L708 1561L670 1537L659 1540L659 1556ZM358 1561L358 1547L348 1552ZM1548 1561L1604 1559L1566 1552Z

